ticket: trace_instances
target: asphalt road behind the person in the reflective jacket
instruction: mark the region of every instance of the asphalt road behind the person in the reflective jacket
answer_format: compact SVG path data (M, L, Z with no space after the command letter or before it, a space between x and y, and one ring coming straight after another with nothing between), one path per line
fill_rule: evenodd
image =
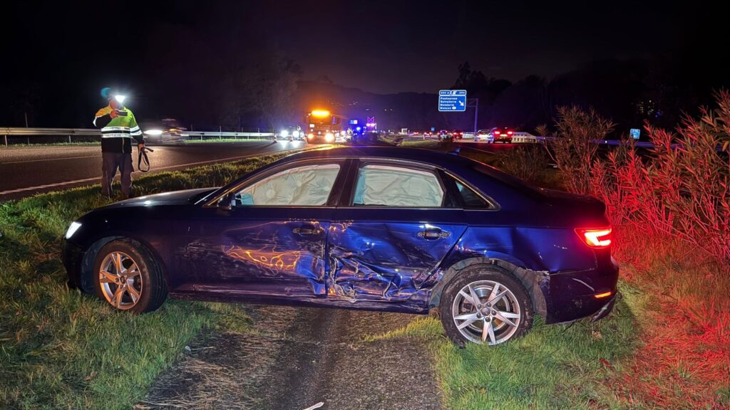
M151 147L152 171L236 160L304 147L304 142L212 142ZM132 155L137 167L137 150ZM135 172L134 176L140 173ZM117 174L117 177L119 174ZM0 201L99 183L101 147L46 146L0 149Z

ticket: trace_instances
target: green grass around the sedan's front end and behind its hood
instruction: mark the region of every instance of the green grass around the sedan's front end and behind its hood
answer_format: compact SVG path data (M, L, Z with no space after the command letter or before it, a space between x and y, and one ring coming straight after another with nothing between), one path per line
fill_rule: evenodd
M282 156L154 174L135 189L223 185ZM0 204L0 409L128 409L203 328L245 329L235 305L171 300L133 316L69 290L61 236L107 202L99 187L80 187Z

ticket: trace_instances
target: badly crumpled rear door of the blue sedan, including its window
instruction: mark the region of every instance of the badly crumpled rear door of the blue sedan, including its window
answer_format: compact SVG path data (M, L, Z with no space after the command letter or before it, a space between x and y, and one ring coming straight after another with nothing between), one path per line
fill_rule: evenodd
M429 166L353 161L342 203L328 234L329 298L406 301L466 230L442 173Z

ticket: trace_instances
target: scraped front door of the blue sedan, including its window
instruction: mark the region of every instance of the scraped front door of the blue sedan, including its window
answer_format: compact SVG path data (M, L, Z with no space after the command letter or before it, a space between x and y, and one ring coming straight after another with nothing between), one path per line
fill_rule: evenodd
M325 295L326 234L344 164L274 169L232 191L231 209L201 209L187 249L194 290L253 298Z

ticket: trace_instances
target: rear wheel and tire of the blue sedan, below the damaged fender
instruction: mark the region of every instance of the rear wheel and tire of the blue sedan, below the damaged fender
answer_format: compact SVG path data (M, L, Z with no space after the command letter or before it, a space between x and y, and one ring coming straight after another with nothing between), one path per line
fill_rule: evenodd
M497 296L502 294L496 302L488 300L494 295L494 287ZM479 308L472 303L471 290L477 294ZM444 288L439 302L444 330L459 346L501 344L523 336L532 327L533 312L532 301L519 279L491 265L469 266L459 271Z

